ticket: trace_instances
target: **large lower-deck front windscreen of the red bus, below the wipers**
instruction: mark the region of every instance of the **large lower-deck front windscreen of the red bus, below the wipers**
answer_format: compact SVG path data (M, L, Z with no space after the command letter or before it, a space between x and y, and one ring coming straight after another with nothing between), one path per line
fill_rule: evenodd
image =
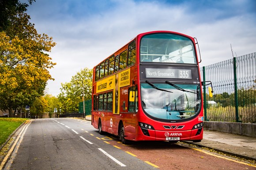
M141 83L144 112L155 119L181 120L195 116L200 109L200 88L195 84Z

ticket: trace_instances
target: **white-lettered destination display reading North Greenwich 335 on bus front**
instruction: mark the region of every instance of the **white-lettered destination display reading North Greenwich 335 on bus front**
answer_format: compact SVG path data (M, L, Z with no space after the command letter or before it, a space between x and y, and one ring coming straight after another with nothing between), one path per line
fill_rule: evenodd
M192 79L191 69L146 68L147 78Z

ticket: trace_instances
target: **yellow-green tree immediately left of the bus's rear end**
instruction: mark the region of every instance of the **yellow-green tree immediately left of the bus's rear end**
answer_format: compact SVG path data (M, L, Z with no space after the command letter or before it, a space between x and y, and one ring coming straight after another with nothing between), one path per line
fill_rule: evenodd
M79 102L91 99L92 89L92 69L81 69L68 83L61 83L61 92L58 98L62 104L64 112L78 112ZM84 88L84 89L83 89Z

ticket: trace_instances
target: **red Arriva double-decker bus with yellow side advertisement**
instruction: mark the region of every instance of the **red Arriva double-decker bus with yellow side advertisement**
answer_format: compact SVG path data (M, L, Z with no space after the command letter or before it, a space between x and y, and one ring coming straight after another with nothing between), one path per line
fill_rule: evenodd
M141 33L94 67L92 125L129 141L201 141L203 98L195 38Z

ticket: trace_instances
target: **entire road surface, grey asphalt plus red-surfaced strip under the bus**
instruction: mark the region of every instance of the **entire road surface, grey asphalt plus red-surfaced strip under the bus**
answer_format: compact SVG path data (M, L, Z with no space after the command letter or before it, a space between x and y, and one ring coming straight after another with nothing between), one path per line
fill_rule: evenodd
M25 127L16 134L20 139L4 170L256 168L167 141L122 145L113 135L100 135L90 121L80 119L34 119Z

